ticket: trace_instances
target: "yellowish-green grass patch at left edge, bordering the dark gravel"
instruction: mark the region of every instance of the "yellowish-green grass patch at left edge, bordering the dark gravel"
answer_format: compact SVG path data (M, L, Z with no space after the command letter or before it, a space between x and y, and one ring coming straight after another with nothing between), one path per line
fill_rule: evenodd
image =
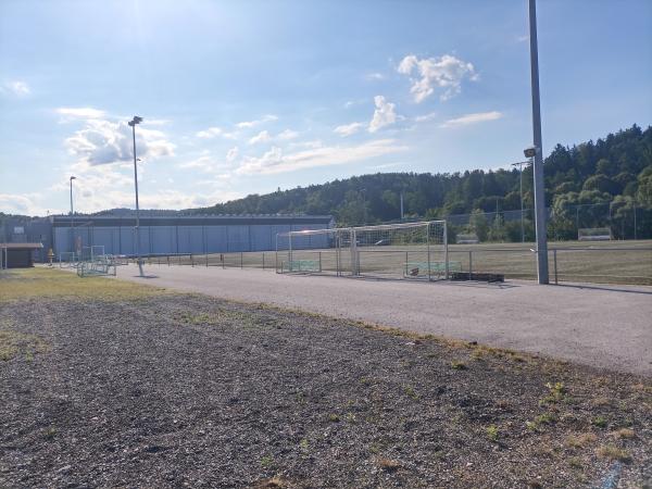
M0 302L25 299L71 298L104 301L142 299L167 293L165 289L105 277L79 278L73 272L25 268L0 274Z

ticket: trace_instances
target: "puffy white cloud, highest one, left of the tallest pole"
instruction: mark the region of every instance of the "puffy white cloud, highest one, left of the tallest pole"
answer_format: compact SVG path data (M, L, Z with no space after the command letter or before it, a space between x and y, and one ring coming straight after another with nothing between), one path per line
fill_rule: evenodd
M414 54L403 58L399 64L398 72L412 76L415 71L417 72L417 77L411 78L412 87L410 91L417 103L423 102L432 95L436 87L443 90L440 99L448 100L460 93L464 78L472 82L479 78L473 64L450 54L422 60Z

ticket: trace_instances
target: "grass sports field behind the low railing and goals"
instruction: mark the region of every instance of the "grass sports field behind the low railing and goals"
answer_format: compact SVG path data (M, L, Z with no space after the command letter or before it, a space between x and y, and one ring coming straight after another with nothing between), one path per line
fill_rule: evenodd
M450 244L449 261L452 268L467 272L504 274L506 278L536 279L535 243L482 243ZM427 252L423 246L414 247L361 247L360 266L363 275L399 278L414 263L426 263ZM556 252L554 251L556 250ZM222 256L222 258L221 258ZM556 260L555 260L556 259ZM280 268L287 261L287 252L279 253L278 263L274 251L249 253L193 254L171 258L171 264L225 267ZM333 249L296 250L292 260L312 261L321 264L323 273L336 273L338 258ZM431 262L443 261L439 249L432 249ZM563 241L549 243L550 280L595 284L652 285L652 240L638 241ZM342 251L339 268L350 273L351 256ZM150 259L151 264L167 264L167 259ZM422 265L422 274L424 266Z

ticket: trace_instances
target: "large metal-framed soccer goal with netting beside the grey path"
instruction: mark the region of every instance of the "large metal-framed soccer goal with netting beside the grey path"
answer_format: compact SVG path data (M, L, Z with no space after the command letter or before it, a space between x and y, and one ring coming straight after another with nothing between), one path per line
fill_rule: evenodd
M444 221L277 235L278 273L443 279L450 272Z

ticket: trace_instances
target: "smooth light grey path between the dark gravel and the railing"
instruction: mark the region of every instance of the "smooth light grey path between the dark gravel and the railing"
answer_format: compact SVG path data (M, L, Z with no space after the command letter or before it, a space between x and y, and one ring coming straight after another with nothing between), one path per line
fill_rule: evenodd
M135 266L118 277L135 277ZM411 284L158 266L147 283L652 375L652 287Z

